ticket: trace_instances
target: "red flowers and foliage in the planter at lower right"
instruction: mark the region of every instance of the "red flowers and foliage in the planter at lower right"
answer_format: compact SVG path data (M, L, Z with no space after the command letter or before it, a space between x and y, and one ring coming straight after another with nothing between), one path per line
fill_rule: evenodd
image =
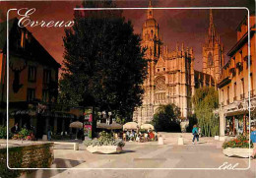
M224 142L223 148L253 148L252 143L249 143L248 136L238 136L236 139Z

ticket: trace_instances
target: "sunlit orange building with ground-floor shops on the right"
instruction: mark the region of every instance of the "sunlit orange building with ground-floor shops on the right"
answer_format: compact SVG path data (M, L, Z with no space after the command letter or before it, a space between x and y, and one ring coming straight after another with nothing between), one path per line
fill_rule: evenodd
M251 119L255 119L255 15L246 17L236 31L237 42L227 53L229 60L223 67L222 77L218 84L221 136L248 132L249 104ZM248 53L248 43L250 43L250 54Z

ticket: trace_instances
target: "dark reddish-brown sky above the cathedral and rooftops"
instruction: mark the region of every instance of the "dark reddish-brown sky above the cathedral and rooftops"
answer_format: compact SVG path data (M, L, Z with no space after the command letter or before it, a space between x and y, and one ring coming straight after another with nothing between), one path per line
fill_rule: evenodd
M115 1L117 7L146 8L148 0ZM0 2L0 22L6 21L6 12L10 8L35 8L32 21L72 21L73 8L80 6L81 1L6 1ZM153 0L154 7L247 7L255 9L254 0ZM133 24L135 33L141 33L147 19L147 10L124 10L123 16ZM213 10L214 24L224 43L224 53L236 42L236 28L247 15L244 9ZM17 17L17 12L10 14ZM176 43L193 47L195 69L202 70L202 46L209 27L209 10L155 10L154 17L160 26L163 44L174 50ZM18 16L19 18L19 16ZM64 28L28 28L42 46L62 64ZM225 61L228 57L224 56Z

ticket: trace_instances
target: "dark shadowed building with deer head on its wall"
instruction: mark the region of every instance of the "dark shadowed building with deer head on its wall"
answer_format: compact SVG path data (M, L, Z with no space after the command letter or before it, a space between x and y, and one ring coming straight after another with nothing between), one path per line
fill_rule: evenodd
M9 22L9 127L34 130L41 138L51 127L54 133L68 132L73 110L57 104L60 64L43 48L18 19ZM6 125L6 22L0 24L0 125ZM83 114L83 112L82 112Z

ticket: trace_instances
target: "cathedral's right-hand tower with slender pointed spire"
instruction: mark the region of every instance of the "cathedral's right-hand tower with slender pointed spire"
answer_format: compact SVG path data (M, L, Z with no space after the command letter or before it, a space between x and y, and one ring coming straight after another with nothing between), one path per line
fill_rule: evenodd
M210 10L210 26L203 46L203 73L209 74L215 80L215 86L221 77L222 67L224 66L224 45L220 35L215 29L213 22L213 12Z

